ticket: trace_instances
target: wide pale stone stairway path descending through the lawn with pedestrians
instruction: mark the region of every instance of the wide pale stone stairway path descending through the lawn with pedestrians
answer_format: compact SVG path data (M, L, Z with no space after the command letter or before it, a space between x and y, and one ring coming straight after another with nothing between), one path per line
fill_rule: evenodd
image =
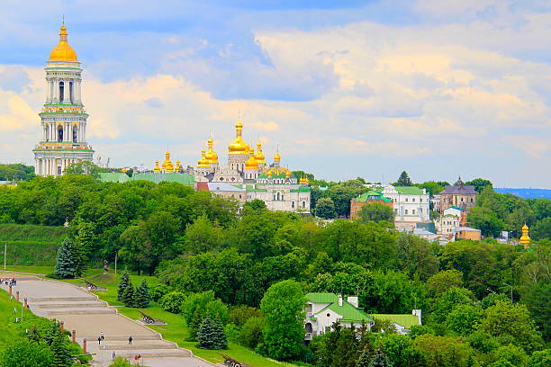
M66 282L43 280L29 275L0 273L0 278L17 279L13 294L19 291L20 301L26 298L32 313L62 321L67 330L77 331L77 343L83 345L86 338L87 352L95 354L94 366L108 366L113 352L129 358L134 363L136 354L140 365L150 367L212 367L194 357L191 351L178 348L139 322L117 313L95 294ZM8 291L3 282L2 288ZM97 338L104 333L98 345ZM129 345L132 336L132 345Z

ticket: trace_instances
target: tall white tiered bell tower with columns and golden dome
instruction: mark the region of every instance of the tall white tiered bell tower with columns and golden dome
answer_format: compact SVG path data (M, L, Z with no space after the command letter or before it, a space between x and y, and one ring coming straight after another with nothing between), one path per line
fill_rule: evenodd
M88 115L82 103L82 68L67 36L62 25L59 44L51 50L45 67L46 102L39 113L41 141L32 149L36 175L63 175L71 164L94 157L86 142Z

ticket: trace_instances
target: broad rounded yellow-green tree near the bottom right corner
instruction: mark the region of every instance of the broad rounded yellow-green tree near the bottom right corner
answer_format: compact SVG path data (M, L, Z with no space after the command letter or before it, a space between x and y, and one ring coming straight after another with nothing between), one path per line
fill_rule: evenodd
M498 300L484 311L480 329L502 345L518 345L527 353L538 350L542 339L525 305Z

